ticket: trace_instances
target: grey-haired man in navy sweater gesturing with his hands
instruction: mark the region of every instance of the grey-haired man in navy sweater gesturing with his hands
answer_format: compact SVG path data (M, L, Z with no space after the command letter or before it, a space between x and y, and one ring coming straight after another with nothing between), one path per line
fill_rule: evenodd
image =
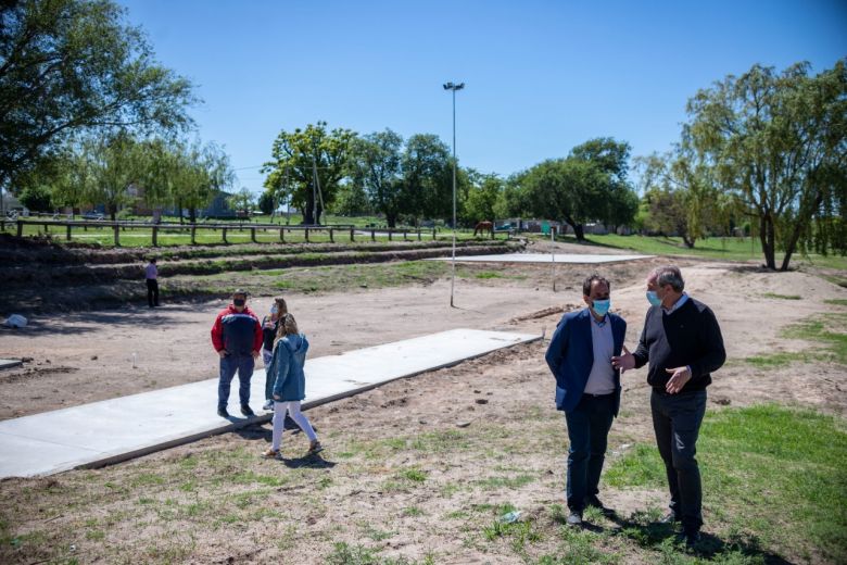
M656 443L665 462L670 514L662 522L681 522L685 543L699 540L703 489L697 466L697 435L706 413L706 387L711 373L726 360L721 328L706 304L683 292L682 273L673 265L647 277L650 307L635 353L612 357L621 373L649 362L650 412Z

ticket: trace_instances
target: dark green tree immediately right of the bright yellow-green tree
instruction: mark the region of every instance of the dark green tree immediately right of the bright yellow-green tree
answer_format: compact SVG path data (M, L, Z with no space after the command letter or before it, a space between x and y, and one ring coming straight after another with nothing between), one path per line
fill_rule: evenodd
M395 227L403 210L403 138L385 129L356 138L351 145L352 184L367 193L375 210Z

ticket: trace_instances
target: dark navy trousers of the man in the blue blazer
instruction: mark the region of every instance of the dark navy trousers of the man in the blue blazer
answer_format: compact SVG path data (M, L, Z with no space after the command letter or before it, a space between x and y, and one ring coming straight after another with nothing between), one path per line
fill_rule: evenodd
M606 443L615 417L615 394L583 394L573 410L565 413L568 423L568 507L581 512L585 497L599 492L599 476L606 459Z

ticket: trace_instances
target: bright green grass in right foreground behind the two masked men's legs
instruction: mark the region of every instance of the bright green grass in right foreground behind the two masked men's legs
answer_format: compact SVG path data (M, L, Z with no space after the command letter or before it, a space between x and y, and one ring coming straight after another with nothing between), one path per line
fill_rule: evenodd
M835 416L773 404L709 412L697 445L707 523L733 516L768 545L819 551L826 561L844 562L846 425ZM647 444L616 461L605 480L617 488L667 488L658 452Z

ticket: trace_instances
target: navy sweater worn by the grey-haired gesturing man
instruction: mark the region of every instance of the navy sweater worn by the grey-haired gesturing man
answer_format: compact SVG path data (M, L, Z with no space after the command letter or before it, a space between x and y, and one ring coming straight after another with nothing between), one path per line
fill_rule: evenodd
M636 368L649 361L647 382L661 390L671 377L666 368L690 365L692 378L681 392L708 387L711 373L726 361L718 319L709 306L691 297L670 314L662 312L661 306L647 311L639 348L633 355Z

